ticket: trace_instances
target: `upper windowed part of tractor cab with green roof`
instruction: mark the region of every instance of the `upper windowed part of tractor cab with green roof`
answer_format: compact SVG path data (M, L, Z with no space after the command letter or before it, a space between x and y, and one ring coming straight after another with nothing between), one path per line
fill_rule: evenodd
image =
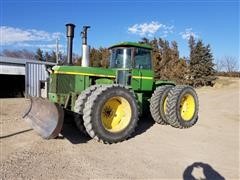
M147 44L123 42L110 48L110 68L152 69L151 50Z

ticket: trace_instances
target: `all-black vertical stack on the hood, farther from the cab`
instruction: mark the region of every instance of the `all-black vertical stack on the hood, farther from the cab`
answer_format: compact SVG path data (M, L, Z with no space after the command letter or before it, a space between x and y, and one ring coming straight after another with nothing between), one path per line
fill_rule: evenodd
M74 24L66 24L67 28L67 64L72 65L72 49L73 49L73 37L74 37Z

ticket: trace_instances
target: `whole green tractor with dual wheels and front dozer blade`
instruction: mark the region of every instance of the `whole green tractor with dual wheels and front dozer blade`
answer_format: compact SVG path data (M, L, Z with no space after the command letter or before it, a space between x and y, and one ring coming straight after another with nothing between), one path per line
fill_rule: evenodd
M144 112L159 124L189 128L198 120L198 98L190 86L155 80L151 46L123 42L109 48L108 68L89 67L87 29L82 32L82 66L72 65L74 25L67 24L68 64L51 70L48 100L31 98L24 115L45 139L62 129L64 111L74 112L77 127L103 143L129 138Z

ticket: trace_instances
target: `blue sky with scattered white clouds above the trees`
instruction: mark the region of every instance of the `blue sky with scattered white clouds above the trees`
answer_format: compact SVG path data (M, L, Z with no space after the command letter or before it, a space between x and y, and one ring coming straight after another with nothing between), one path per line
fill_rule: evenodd
M80 31L90 25L92 47L108 47L142 37L178 42L188 56L187 38L210 44L215 58L239 57L239 1L77 1L0 0L1 49L50 50L60 38L65 49L65 24L76 24L74 52L80 54Z

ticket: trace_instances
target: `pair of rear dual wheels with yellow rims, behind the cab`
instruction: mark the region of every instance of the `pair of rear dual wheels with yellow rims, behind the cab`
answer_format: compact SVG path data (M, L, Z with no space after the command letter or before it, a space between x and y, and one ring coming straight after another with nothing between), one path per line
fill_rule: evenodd
M159 124L192 127L198 120L198 97L190 86L160 86L150 100L151 115Z

